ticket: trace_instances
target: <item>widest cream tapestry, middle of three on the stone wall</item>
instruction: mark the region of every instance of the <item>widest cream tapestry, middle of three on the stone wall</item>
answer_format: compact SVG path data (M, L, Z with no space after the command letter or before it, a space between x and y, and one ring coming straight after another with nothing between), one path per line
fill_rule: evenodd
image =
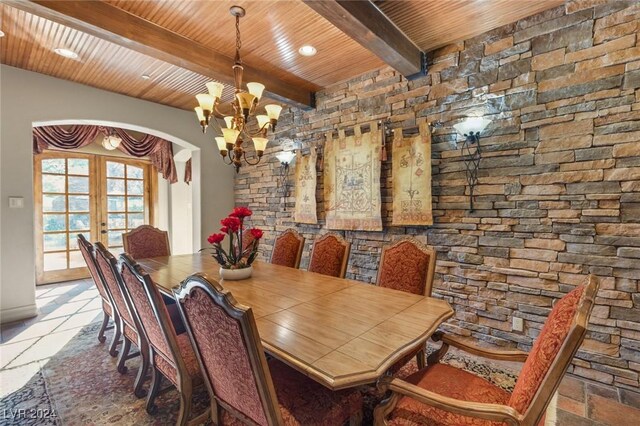
M353 136L327 133L324 149L324 206L327 228L381 231L380 149L382 131L354 128Z

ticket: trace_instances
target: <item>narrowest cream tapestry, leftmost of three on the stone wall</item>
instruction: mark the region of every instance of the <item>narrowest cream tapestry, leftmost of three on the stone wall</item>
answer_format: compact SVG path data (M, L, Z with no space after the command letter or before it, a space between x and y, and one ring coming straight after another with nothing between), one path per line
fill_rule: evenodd
M309 155L303 156L300 150L296 153L296 206L293 220L298 223L318 223L316 214L316 148L312 147Z

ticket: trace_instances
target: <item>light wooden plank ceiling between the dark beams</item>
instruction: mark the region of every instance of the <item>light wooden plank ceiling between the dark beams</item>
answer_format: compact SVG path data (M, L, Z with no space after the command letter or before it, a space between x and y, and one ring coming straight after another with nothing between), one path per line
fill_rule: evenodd
M0 0L2 1L2 0ZM247 10L242 18L242 58L270 76L287 74L322 88L384 65L365 47L342 33L302 1L130 1L105 0L129 14L162 27L222 55L233 57L233 4ZM422 50L432 50L562 3L560 0L384 1L376 2ZM30 71L100 89L191 109L193 96L211 77L105 41L96 35L52 22L0 3L0 61ZM131 31L135 32L135 28ZM95 34L95 33L94 33ZM298 49L313 45L313 57ZM56 55L66 47L78 59ZM182 64L180 64L182 65ZM151 78L142 79L143 74ZM268 87L267 87L268 89ZM225 97L233 89L225 89Z

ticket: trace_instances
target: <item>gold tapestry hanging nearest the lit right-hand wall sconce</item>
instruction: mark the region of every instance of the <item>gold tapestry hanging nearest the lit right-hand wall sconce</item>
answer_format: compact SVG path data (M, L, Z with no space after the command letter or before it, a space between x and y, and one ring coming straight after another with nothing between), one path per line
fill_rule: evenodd
M420 133L403 138L393 130L392 225L433 225L431 206L431 131L426 121Z

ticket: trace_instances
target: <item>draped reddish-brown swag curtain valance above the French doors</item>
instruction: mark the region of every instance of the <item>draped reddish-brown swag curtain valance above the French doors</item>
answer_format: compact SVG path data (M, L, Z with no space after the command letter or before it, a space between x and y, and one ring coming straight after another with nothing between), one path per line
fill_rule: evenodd
M132 157L149 157L151 164L171 183L178 181L176 165L173 161L171 142L152 135L136 139L126 131L103 126L42 126L33 129L33 152L40 154L44 149L76 149L89 145L100 133L118 135L122 142L118 149Z

